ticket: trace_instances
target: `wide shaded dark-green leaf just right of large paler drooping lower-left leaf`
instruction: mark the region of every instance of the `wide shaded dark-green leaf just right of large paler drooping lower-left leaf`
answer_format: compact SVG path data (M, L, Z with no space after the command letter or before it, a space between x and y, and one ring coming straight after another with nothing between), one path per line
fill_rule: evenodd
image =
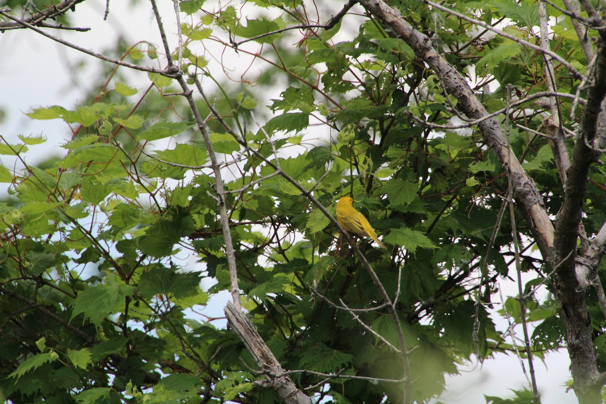
M145 271L139 281L139 293L145 299L157 294L175 296L177 299L181 299L198 293L199 288L199 272L178 273L174 269L159 265L156 265L150 271Z

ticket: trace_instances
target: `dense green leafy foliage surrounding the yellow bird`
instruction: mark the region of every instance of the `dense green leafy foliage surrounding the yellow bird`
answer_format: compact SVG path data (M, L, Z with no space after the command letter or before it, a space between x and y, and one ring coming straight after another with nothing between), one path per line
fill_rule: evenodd
M314 402L427 402L465 360L518 350L541 358L565 346L559 300L535 293L552 290L557 268L539 251L528 212L507 203L511 176L493 144L417 49L369 8L351 5L330 27L316 27L311 20L337 15L342 4L312 12L298 1L179 1L182 38L172 59L164 44L130 44L127 65L108 73L139 68L150 88L112 79L78 107L33 108L30 118L72 128L59 161L28 161L44 136L0 145L0 181L9 184L0 203L7 399L279 401L259 383L267 372L238 336L199 314L208 299L233 291L235 269L242 308ZM535 2L447 4L479 16L474 22L420 1L391 5L473 83L553 219L565 199L554 144L571 150L588 93L579 72L590 61L571 19L547 6L559 17L548 45L568 62L555 62L550 78L544 53L525 46L539 43ZM172 24L175 15L162 19ZM307 27L273 33L296 25ZM261 73L251 68L228 82L205 43L254 55ZM279 97L267 99L276 86ZM197 108L179 94L187 88ZM547 91L560 94L552 104L565 129L558 139L545 119ZM127 101L133 95L138 101ZM591 165L587 178L591 237L606 219L603 165ZM388 247L357 239L367 262L322 211L334 216L348 194ZM533 279L520 285L520 299L501 305L496 280L517 279L516 267ZM202 290L204 279L213 286ZM601 363L604 314L599 289L590 291ZM514 346L494 326L498 313L536 328Z

